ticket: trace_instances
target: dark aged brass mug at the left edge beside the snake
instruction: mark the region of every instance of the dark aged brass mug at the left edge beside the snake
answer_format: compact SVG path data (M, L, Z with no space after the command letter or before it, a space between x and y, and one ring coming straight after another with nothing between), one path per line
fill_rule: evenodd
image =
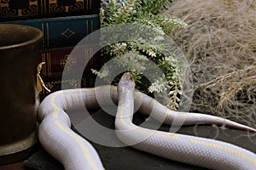
M43 32L0 24L0 164L25 159L37 142L36 78Z

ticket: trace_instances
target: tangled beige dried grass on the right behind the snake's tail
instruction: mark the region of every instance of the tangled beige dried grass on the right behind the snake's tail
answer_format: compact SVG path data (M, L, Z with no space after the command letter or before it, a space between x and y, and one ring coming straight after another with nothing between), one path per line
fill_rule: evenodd
M193 75L190 110L256 127L256 1L176 0L165 13L189 24L172 37Z

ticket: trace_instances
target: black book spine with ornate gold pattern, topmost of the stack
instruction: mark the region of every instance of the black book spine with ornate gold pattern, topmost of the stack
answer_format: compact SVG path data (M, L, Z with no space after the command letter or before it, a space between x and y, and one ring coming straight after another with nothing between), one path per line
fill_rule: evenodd
M0 21L99 14L100 0L1 0Z

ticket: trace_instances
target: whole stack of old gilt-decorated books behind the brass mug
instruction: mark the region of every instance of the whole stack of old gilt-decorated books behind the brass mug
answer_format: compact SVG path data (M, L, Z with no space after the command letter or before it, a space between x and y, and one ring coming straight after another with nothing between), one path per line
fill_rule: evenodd
M5 0L0 1L0 21L34 26L43 31L38 64L45 62L40 75L51 92L60 90L61 84L66 88L92 87L95 76L90 69L97 69L99 65L98 43L79 47L85 59L94 54L82 78L65 79L62 73L64 67L65 71L72 71L81 65L71 52L84 37L100 28L100 7L100 0ZM40 98L48 94L43 90Z

